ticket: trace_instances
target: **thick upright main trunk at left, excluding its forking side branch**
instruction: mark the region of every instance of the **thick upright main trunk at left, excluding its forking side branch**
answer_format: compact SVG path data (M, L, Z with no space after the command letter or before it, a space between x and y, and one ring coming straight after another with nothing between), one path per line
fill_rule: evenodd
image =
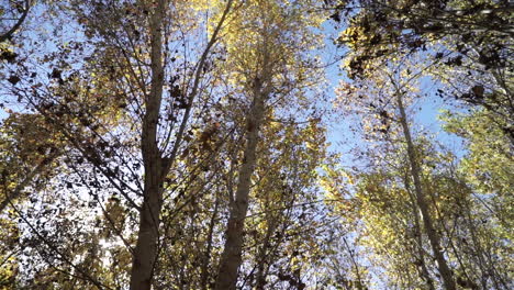
M159 214L163 205L164 159L157 143L157 127L163 99L163 22L165 0L158 0L149 19L150 33L150 92L145 96L145 115L141 136L145 169L143 204L141 207L139 232L134 249L131 274L131 290L149 290L157 259Z

